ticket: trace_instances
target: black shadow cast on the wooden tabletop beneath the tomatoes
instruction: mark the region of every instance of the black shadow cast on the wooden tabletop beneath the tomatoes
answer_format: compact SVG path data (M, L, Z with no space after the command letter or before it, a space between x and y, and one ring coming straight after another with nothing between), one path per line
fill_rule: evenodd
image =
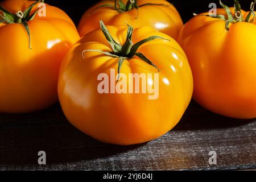
M160 141L156 143L156 146L159 146L162 142L176 140L177 135L177 139L181 140L185 138L185 133L192 130L200 133L200 130L204 129L232 129L237 126L243 127L247 123L248 121L213 114L192 101L178 125L166 137L152 142ZM163 139L165 140L162 141ZM174 143L170 145L175 147ZM38 166L38 152L41 150L46 151L47 164L57 165L80 161L104 161L103 159L112 156L115 160L114 157L119 154L125 158L129 153L150 146L147 143L115 146L98 142L73 127L65 119L59 104L31 114L0 114L0 166ZM129 156L129 160L137 157Z

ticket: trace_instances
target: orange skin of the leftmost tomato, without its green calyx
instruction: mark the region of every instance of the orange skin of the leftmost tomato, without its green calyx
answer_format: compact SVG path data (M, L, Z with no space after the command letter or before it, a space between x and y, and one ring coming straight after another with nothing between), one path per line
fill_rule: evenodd
M15 13L33 2L8 0L1 5ZM32 49L22 24L0 24L0 112L27 113L54 104L61 60L79 39L72 20L53 6L46 5L46 16L37 14L28 26Z

